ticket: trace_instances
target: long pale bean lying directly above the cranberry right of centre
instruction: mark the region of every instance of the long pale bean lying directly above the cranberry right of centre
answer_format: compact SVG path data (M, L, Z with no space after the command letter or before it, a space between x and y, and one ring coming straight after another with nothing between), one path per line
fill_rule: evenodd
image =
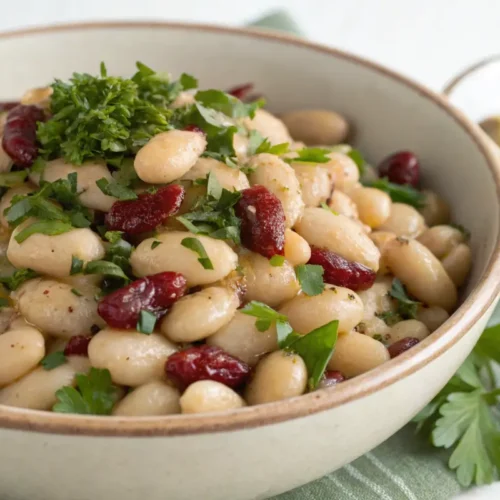
M295 231L310 245L327 248L347 260L378 270L380 252L359 224L323 208L306 208Z

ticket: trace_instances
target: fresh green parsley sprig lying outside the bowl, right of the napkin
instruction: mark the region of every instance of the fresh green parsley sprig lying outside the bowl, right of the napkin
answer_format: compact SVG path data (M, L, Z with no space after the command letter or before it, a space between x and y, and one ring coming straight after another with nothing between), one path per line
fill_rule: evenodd
M452 450L448 465L462 486L500 475L498 346L500 325L484 331L458 372L414 419L434 446Z

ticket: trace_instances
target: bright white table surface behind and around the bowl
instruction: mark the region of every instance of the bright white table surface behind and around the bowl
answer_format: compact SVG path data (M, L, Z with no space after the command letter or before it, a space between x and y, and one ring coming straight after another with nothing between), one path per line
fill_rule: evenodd
M0 0L0 31L116 19L238 25L278 8L288 10L307 38L374 59L435 90L469 63L500 52L498 0ZM500 483L460 496L498 498Z

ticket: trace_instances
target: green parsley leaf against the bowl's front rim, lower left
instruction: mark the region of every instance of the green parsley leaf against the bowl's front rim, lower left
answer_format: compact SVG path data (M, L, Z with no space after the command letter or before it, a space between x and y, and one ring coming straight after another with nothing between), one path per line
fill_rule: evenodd
M79 373L75 377L76 388L64 386L56 392L56 413L79 413L81 415L110 415L118 401L118 388L113 385L109 370L91 368L88 375Z

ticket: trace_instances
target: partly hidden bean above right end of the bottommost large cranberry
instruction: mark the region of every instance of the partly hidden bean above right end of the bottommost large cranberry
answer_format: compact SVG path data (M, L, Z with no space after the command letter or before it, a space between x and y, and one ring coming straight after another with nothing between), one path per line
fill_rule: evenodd
M207 344L220 347L250 366L255 366L264 354L278 348L275 326L261 332L253 316L239 311L227 325L207 338Z

